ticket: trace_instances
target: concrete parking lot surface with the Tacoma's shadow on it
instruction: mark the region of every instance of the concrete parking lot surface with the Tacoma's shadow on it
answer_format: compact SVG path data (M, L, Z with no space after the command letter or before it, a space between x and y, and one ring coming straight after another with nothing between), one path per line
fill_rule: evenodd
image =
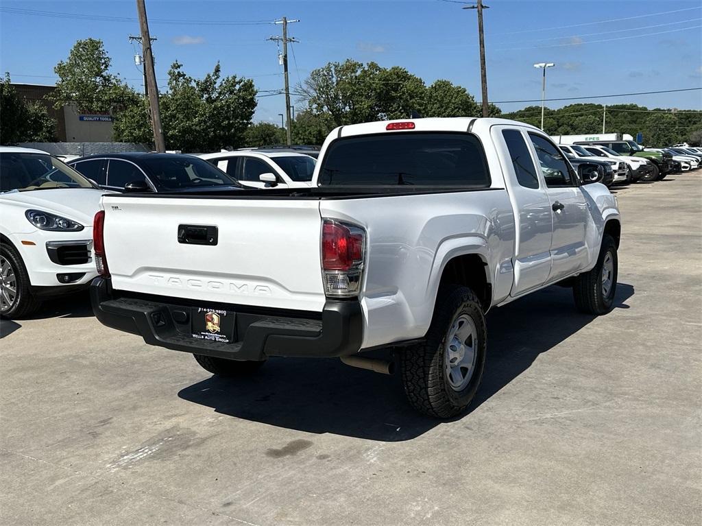
M616 190L616 308L552 287L488 315L477 401L270 360L213 379L87 296L0 322L0 524L698 525L702 176Z

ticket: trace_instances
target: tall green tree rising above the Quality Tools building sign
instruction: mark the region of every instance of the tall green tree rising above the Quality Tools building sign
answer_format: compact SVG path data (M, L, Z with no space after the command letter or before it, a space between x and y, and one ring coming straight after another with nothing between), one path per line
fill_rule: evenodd
M138 95L117 75L110 73L110 57L102 40L77 41L54 68L58 75L51 95L55 107L74 104L81 113L117 113L138 103Z

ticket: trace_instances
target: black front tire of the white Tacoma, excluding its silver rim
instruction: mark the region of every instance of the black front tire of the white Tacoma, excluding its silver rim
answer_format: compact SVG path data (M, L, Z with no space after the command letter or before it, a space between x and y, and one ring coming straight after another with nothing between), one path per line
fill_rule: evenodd
M607 255L611 258L612 269L610 274L611 285L607 294L604 293L602 280L602 268ZM605 234L600 246L600 255L597 256L597 264L590 272L576 277L573 284L573 297L575 304L581 313L600 316L609 313L614 307L614 296L616 296L616 280L618 274L618 260L616 254L616 243L614 239Z

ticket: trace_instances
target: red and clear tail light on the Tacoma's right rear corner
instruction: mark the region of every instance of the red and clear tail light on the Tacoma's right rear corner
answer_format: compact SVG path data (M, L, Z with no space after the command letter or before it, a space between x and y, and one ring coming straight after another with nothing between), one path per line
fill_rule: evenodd
M326 296L358 296L365 256L365 230L350 223L324 219L322 275Z

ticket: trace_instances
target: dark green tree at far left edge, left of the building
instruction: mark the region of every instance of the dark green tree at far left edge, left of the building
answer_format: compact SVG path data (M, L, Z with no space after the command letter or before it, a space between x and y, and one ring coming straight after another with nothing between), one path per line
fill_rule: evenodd
M56 122L40 103L22 100L9 75L0 81L0 143L43 143L55 139Z

